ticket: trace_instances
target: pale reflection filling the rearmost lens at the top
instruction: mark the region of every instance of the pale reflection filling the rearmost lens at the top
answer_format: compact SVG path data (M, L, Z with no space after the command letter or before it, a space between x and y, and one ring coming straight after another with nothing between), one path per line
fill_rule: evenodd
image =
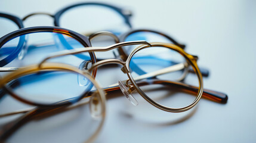
M99 5L81 5L65 11L60 16L60 26L87 36L103 30L119 35L128 29L119 13Z

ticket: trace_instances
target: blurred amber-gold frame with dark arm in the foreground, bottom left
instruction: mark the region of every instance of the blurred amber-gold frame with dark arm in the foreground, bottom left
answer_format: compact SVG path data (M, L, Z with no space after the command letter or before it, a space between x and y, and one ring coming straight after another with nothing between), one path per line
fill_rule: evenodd
M97 94L98 98L96 98L96 100L100 100L100 104L101 104L100 105L101 113L99 115L101 117L100 124L98 125L98 128L95 130L95 132L90 136L90 138L87 139L86 142L94 141L95 138L97 137L98 133L100 132L101 128L103 127L104 120L106 117L106 97L105 97L105 92L103 91L103 89L100 88L98 83L95 82L94 78L87 72L84 72L82 70L79 70L76 67L73 67L73 66L70 66L67 64L62 64L62 63L44 63L41 66L38 66L38 64L33 64L32 66L27 66L27 67L18 69L16 71L12 72L11 74L8 74L8 76L5 76L4 78L2 78L0 81L0 87L1 88L4 87L6 83L10 82L13 79L17 79L18 77L22 77L27 74L38 73L39 71L69 71L72 73L81 74L82 76L87 77L87 79L90 80L90 82L94 85L96 90L91 91L90 96L87 95L84 97L84 98L88 98L88 97L91 97L92 94ZM7 91L8 90L9 89L7 89ZM23 101L22 98L18 97L13 92L8 91L8 93L11 94L14 98L17 98L18 100ZM11 124L11 126L8 125L8 126L6 126L6 128L4 128L4 133L1 134L0 142L5 141L7 138L9 138L9 136L11 136L18 128L20 128L20 126L24 125L26 122L29 122L29 120L33 119L33 117L45 116L45 114L51 113L52 111L55 111L55 110L59 110L60 112L63 112L66 110L70 110L72 108L79 107L84 104L90 104L88 102L80 101L75 105L71 105L69 100L72 100L72 99L67 99L67 100L64 100L61 102L57 102L53 106L36 107L36 108L33 108L32 110L23 112L23 113L25 113L25 114L23 114L23 116L19 117L18 120L16 120L14 123ZM92 99L92 100L94 100L94 99ZM29 101L24 101L24 102L29 102ZM33 102L30 102L30 104L33 104ZM99 104L99 103L97 102L97 104ZM16 114L16 113L14 112L11 114ZM7 114L5 116L11 115L11 114ZM4 117L4 116L1 116L1 117ZM1 130L0 130L0 132L1 132Z

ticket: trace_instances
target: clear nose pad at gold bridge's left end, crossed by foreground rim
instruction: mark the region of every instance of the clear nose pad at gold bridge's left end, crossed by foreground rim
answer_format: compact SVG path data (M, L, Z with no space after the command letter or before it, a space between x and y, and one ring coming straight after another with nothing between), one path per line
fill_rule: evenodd
M91 67L91 61L83 61L79 65L79 69L82 71L87 70L88 68ZM81 74L78 74L78 84L79 86L86 86L90 83L90 80L88 80L86 77L82 76Z

